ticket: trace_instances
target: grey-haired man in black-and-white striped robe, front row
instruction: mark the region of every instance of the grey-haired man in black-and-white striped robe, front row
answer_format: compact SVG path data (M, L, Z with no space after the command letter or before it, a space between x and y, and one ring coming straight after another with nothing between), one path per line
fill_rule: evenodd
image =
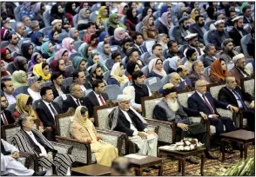
M59 154L44 135L33 128L34 121L24 113L18 118L21 129L12 138L12 144L20 151L35 154L38 164L47 170L45 175L52 175L52 167L56 167L57 175L71 175L71 164L74 159L69 154Z

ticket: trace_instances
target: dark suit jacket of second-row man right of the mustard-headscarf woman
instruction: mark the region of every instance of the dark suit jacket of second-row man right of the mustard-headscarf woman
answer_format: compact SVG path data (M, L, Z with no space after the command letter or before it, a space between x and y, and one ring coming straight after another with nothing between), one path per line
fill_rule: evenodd
M52 106L57 111L57 114L62 114L61 108L58 106L57 103L51 102ZM51 127L53 129L56 129L56 121L55 117L51 115L51 111L49 108L44 104L43 101L38 102L38 107L36 108L37 115L39 119L43 122L44 128Z

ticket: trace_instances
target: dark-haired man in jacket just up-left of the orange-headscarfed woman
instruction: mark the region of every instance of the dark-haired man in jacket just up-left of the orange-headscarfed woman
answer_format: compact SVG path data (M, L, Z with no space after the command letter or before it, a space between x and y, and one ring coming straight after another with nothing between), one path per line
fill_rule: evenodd
M210 43L205 46L205 57L201 60L204 63L204 67L211 66L212 62L216 60L215 46Z

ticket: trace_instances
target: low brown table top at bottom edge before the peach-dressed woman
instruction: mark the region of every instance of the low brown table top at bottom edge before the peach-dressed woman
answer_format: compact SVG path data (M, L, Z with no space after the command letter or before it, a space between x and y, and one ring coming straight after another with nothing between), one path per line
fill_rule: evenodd
M105 167L99 164L92 164L83 167L72 167L71 174L84 176L110 176L111 167Z

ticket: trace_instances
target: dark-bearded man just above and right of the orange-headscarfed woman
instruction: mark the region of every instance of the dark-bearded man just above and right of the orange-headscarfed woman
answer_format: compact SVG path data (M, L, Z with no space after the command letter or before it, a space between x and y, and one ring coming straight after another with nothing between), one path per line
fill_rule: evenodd
M233 41L231 38L224 40L221 46L224 51L221 54L220 58L223 58L226 63L232 62L232 57L239 54L236 50L234 50Z

